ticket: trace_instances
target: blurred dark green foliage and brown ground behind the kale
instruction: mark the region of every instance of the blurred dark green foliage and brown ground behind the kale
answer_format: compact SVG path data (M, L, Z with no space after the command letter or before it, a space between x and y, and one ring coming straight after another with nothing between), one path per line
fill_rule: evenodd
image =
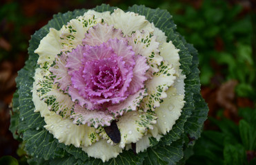
M135 3L166 9L177 32L198 50L201 94L210 111L187 164L256 164L255 0L1 0L0 164L26 164L26 153L12 139L8 126L14 78L28 58L30 36L57 12L101 3L124 10Z

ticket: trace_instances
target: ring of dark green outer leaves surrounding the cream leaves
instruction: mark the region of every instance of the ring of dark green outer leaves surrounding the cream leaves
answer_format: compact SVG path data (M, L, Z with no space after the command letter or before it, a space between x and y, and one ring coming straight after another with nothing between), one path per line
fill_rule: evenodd
M95 9L98 12L112 11L114 7L109 5L100 5ZM49 28L55 28L59 30L62 25L66 24L70 19L82 15L86 10L75 10L74 12L66 12L65 14L55 15L48 25L37 31L30 40L30 47L28 53L30 57L26 61L26 66L19 71L17 77L17 87L19 95L19 103L17 99L14 99L14 103L19 106L19 128L12 127L12 133L14 128L18 129L18 133L23 135L25 142L25 150L29 155L37 157L39 162L43 162L43 159L48 159L47 164L74 164L77 160L77 164L147 164L148 162L154 162L155 164L175 164L183 157L182 146L185 142L184 135L187 133L199 137L201 131L202 122L206 118L206 107L204 100L199 95L199 71L197 69L198 59L195 49L186 43L186 41L175 32L175 24L170 14L166 10L152 10L145 6L133 5L128 8L128 11L134 11L141 15L145 15L148 21L153 22L157 28L160 28L168 36L168 41L173 41L173 44L179 48L181 69L187 78L186 83L186 104L181 113L181 117L177 120L177 124L173 126L173 129L164 136L161 143L156 144L154 148L148 148L148 152L139 153L137 156L133 155L131 151L124 151L117 158L110 159L109 162L103 163L100 159L90 158L88 155L81 151L81 148L75 148L75 146L65 146L59 144L57 140L43 128L45 124L43 118L39 113L34 113L34 104L32 102L31 87L33 83L33 76L37 66L37 54L34 53L37 49L41 39L49 32ZM186 46L185 46L186 45ZM193 57L191 56L191 54ZM190 72L192 71L192 72ZM194 100L197 104L194 106ZM194 111L197 108L197 111ZM203 112L204 111L204 112ZM190 115L192 115L190 117ZM13 117L15 120L15 118ZM190 123L186 124L186 120ZM194 123L196 122L196 123ZM184 125L186 130L184 130ZM183 135L184 134L184 135ZM186 144L188 140L186 140ZM177 154L178 153L178 154ZM34 164L37 159L32 158L28 162ZM146 157L144 161L144 157ZM171 158L170 158L171 157ZM61 161L61 162L60 162ZM144 161L144 162L143 162ZM83 162L83 163L82 163ZM39 163L41 164L41 163Z

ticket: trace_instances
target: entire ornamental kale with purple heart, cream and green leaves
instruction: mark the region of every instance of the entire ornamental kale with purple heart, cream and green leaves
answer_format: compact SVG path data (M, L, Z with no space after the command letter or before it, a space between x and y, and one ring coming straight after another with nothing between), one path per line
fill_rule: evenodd
M166 10L57 14L30 41L10 130L29 164L184 164L208 108Z

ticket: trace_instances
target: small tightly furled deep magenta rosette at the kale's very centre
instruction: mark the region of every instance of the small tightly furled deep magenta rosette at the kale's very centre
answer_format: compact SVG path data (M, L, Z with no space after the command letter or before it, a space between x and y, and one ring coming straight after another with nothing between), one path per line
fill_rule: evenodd
M119 94L119 89L124 83L119 67L120 62L124 61L116 54L112 54L110 58L86 62L82 75L86 83L86 93L88 93L86 98L95 96L109 98Z

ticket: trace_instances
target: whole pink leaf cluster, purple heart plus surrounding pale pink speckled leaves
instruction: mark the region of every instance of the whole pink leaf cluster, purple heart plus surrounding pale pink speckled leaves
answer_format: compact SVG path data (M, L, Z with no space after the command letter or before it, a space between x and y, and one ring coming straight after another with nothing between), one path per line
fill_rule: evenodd
M101 30L108 30L108 34L100 34ZM56 56L56 65L50 72L59 89L68 93L76 102L75 107L79 106L79 111L75 108L71 115L75 122L82 120L82 124L92 124L86 117L81 117L88 116L90 111L95 111L93 114L102 111L108 120L114 120L127 109L135 111L146 96L147 59L132 50L129 36L122 35L121 30L112 25L99 23L88 30L82 45ZM138 96L141 97L136 100Z

